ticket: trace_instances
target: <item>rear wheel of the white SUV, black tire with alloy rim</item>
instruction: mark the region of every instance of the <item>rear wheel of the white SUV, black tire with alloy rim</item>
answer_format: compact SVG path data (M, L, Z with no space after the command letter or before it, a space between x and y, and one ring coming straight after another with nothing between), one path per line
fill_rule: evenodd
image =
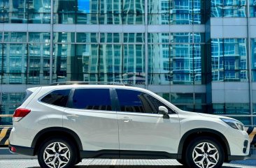
M65 137L46 139L38 150L42 168L68 168L76 164L77 154L73 142Z

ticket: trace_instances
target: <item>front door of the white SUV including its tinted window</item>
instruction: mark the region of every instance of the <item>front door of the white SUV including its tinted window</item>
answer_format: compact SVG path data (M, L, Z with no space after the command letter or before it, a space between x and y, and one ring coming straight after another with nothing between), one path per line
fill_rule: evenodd
M128 151L177 153L180 139L178 114L148 93L115 89L118 98L120 155ZM169 119L158 114L158 107L169 109Z

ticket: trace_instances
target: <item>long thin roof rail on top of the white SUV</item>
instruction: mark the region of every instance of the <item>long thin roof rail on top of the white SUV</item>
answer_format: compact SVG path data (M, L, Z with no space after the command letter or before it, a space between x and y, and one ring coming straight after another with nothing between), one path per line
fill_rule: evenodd
M121 85L126 86L121 82L80 82L80 81L72 81L72 82L55 82L50 84L50 86L57 86L57 85L69 85L69 84L111 84L111 85Z

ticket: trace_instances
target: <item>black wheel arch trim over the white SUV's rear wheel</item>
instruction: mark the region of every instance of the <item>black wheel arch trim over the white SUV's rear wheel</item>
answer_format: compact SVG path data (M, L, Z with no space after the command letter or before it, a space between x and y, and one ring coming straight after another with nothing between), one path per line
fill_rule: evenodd
M68 128L51 127L41 130L34 137L33 142L31 144L31 148L34 148L34 155L36 155L36 153L38 152L38 147L45 139L47 139L48 137L57 136L64 136L73 141L73 143L75 143L76 147L78 148L78 153L80 150L83 150L82 142L80 141L80 138L78 137L76 132L73 132L73 130L70 130Z

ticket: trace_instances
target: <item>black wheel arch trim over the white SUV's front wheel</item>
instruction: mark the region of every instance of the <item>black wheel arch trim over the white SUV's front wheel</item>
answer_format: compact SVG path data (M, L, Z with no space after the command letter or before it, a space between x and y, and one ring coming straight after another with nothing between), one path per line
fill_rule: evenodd
M209 128L197 128L185 132L183 137L181 137L180 144L178 146L178 158L182 159L183 155L185 154L186 148L184 148L184 144L190 142L190 140L194 137L201 136L213 137L214 139L218 140L224 149L225 160L228 159L228 156L230 155L230 148L226 137L221 132Z

